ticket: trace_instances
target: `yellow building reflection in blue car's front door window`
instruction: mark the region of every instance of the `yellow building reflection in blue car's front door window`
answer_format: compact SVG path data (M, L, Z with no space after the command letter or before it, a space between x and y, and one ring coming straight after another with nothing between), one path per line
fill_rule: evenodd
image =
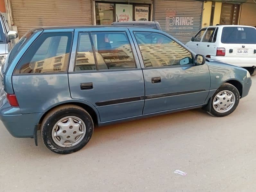
M140 44L140 50L146 67L180 65L181 59L191 58L191 53L175 42L169 44Z

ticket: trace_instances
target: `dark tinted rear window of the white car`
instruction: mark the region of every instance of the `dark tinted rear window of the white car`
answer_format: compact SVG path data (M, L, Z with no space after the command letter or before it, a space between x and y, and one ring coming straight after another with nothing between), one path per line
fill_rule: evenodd
M221 43L256 44L256 29L249 27L224 27Z

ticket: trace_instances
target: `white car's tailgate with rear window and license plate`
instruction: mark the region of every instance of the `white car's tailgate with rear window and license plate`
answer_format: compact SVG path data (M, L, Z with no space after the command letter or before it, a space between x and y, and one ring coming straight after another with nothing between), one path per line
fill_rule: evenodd
M224 27L221 46L226 49L226 57L256 58L256 29L252 27Z

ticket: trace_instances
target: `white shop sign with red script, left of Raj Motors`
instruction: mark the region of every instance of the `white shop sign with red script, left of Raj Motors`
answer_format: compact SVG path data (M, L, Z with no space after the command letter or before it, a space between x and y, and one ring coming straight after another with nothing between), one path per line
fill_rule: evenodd
M132 5L116 4L117 21L132 21Z

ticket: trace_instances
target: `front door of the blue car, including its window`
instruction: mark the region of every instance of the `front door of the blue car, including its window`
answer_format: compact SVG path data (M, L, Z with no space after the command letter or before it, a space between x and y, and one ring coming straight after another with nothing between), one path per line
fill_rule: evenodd
M191 52L157 31L134 31L144 64L143 114L199 106L207 98L210 75L207 65L195 66Z

